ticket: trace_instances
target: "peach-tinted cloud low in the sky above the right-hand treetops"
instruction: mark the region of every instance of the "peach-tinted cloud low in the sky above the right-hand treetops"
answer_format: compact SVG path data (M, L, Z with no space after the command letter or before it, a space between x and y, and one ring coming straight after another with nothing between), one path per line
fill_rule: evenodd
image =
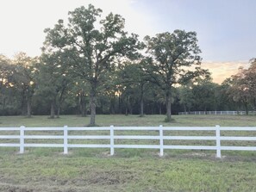
M230 61L214 62L206 61L202 63L203 69L209 69L212 74L213 82L222 84L222 82L238 72L239 67L247 68L250 64L248 61Z

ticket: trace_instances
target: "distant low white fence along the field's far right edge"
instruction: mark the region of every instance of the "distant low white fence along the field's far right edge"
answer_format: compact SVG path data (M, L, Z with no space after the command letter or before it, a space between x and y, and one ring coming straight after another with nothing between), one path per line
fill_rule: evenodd
M178 112L178 115L246 115L246 111L190 111ZM249 115L256 115L256 111L248 111Z

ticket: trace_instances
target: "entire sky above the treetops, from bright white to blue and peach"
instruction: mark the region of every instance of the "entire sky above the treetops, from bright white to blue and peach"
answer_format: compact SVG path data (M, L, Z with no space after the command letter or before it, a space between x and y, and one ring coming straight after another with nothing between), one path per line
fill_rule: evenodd
M256 57L255 0L1 0L0 53L40 55L44 29L89 3L103 15L122 15L128 32L141 40L175 29L197 32L202 66L215 83Z

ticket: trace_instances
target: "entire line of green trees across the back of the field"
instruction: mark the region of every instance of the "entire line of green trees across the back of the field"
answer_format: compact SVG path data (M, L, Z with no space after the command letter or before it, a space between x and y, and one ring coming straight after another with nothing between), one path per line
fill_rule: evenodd
M139 40L121 15L93 5L45 29L41 55L0 56L0 114L172 114L255 108L255 59L214 84L201 68L197 34L175 30Z

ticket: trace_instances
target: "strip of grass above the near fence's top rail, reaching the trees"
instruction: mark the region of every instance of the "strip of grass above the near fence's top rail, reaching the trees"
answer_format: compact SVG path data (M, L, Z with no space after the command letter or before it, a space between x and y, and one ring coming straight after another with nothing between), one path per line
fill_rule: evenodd
M256 116L242 115L173 115L174 121L165 122L165 115L97 115L98 126L205 126L212 127L220 125L222 127L244 127L256 126ZM59 119L48 119L48 116L33 116L26 118L23 116L0 116L0 127L63 127L67 126L87 126L90 117L78 117L75 115L63 115Z

